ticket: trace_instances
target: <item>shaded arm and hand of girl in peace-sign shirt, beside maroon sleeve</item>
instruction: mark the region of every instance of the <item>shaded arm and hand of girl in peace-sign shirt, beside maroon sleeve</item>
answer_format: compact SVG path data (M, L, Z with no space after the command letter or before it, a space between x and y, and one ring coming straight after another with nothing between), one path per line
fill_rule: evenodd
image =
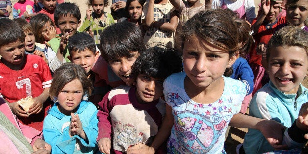
M166 104L166 115L151 146L137 144L127 149L127 154L154 154L160 145L168 139L174 120L171 106Z

